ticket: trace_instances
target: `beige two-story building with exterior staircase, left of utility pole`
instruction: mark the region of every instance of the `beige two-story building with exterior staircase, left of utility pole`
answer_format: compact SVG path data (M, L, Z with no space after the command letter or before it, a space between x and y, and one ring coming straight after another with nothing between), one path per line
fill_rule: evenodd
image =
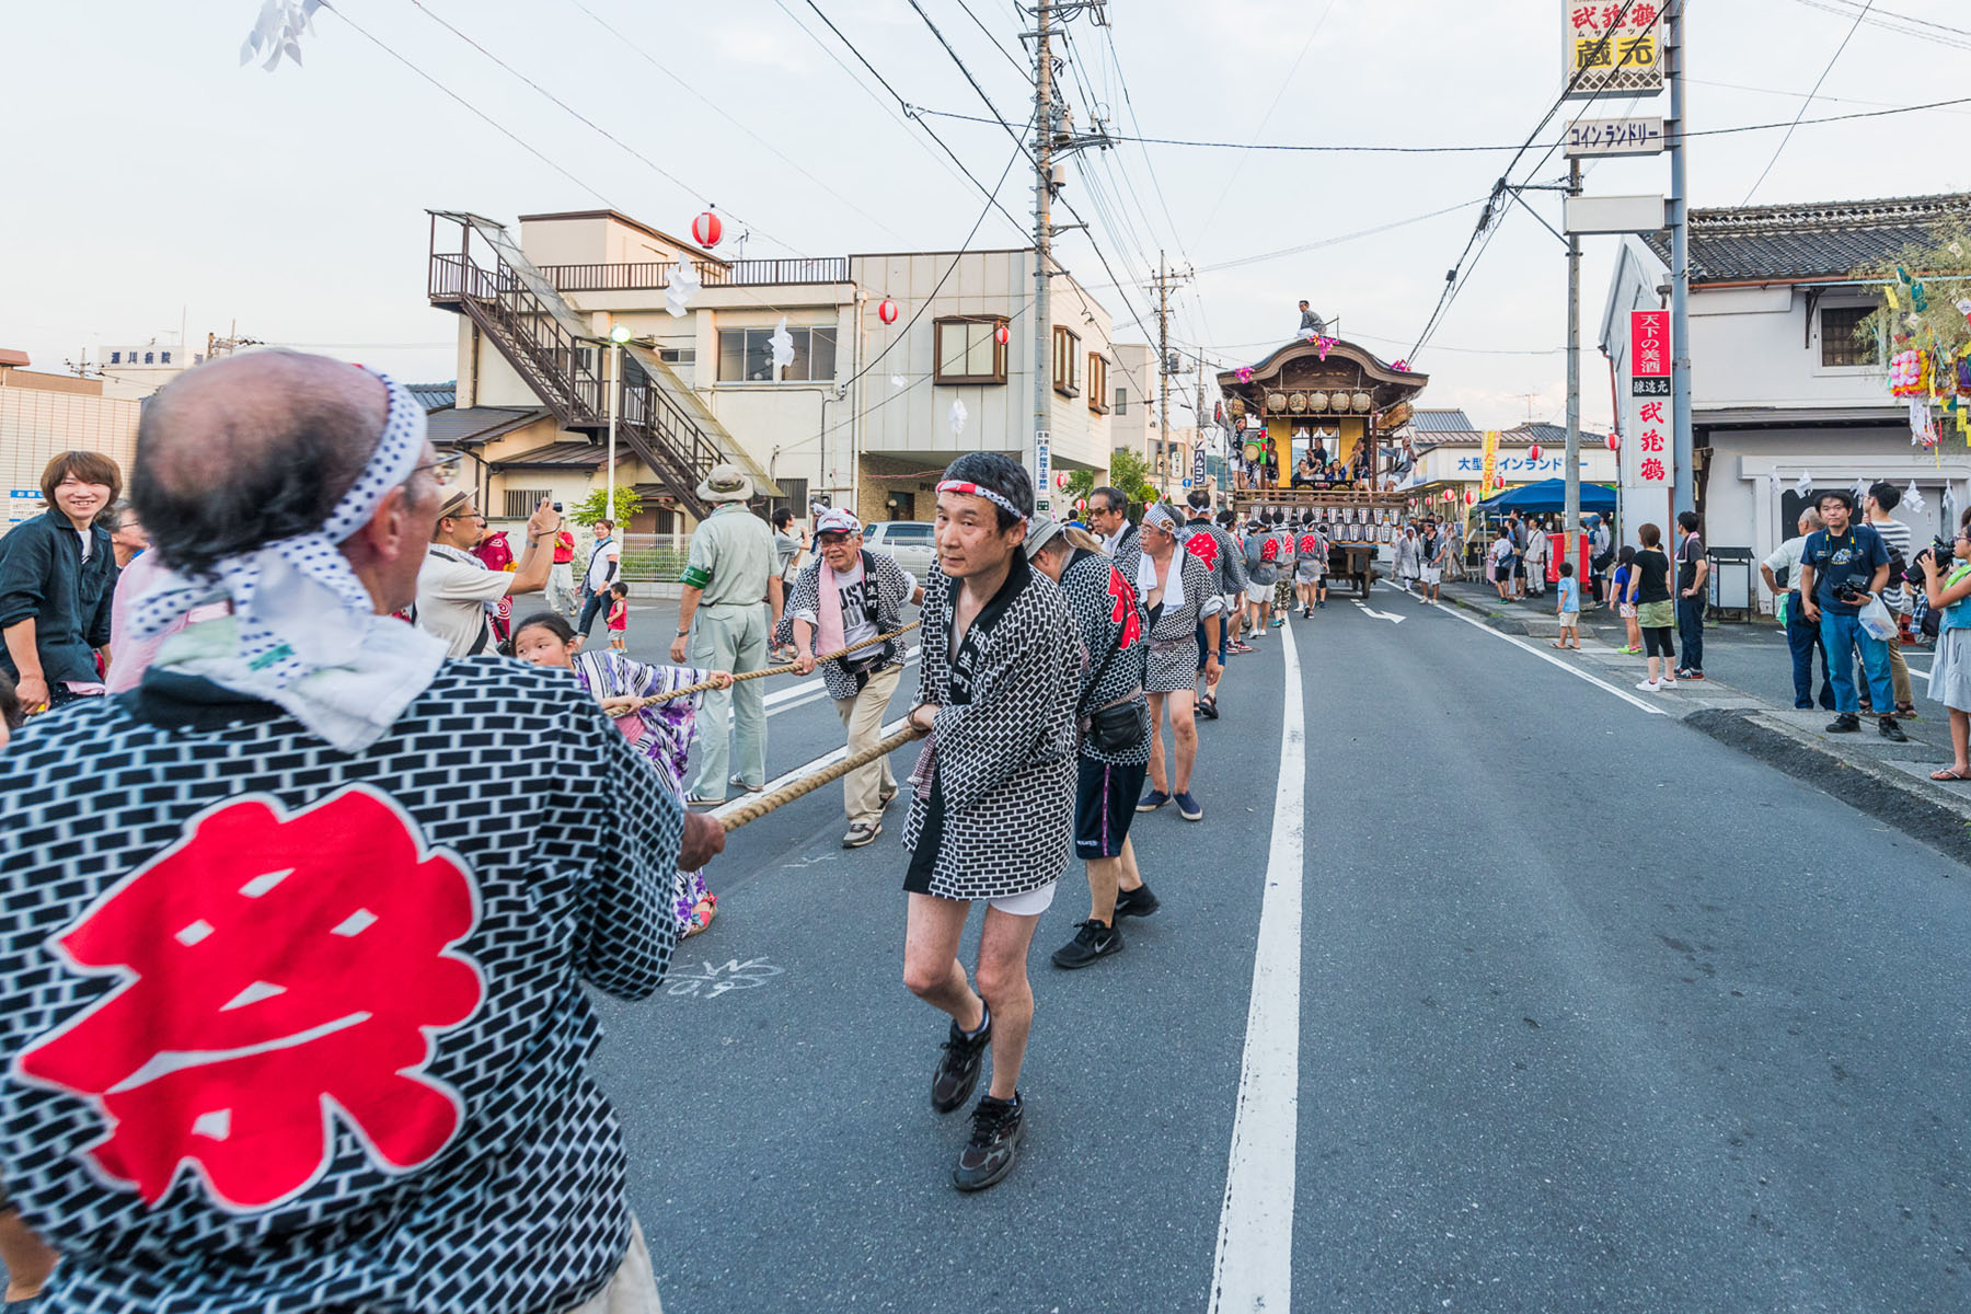
M674 297L680 268L698 286ZM617 485L645 496L631 532L686 530L717 461L800 512L917 520L956 455L1031 453L1031 250L727 260L615 211L524 215L518 240L434 213L430 299L459 313L457 406L434 433L473 457L495 516L605 483L611 414ZM1106 475L1116 345L1066 272L1051 339L1053 469Z

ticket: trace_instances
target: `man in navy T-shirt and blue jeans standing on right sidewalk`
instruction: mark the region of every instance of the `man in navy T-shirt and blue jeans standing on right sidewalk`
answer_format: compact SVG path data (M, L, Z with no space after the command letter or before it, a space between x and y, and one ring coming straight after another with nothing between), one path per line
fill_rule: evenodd
M1853 735L1861 729L1861 699L1855 691L1855 652L1869 678L1870 705L1886 709L1894 703L1888 682L1888 644L1861 623L1861 611L1888 583L1888 546L1867 524L1851 524L1855 494L1847 489L1821 493L1821 520L1827 528L1807 534L1800 552L1800 603L1807 621L1821 626L1827 648L1827 674L1835 686L1835 719L1831 735ZM1882 739L1906 743L1910 737L1896 717L1880 711L1876 729Z

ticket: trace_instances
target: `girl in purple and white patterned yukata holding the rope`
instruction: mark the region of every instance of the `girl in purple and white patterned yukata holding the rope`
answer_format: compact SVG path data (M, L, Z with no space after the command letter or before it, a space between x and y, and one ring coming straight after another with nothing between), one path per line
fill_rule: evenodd
M729 670L692 670L690 666L648 666L621 652L581 652L581 634L564 617L542 611L520 621L512 636L512 654L532 666L560 666L574 672L581 688L595 695L603 711L684 800L684 760L698 739L698 707L702 693L674 697L668 703L639 707L637 699L712 682L731 688ZM717 894L706 888L702 871L680 871L674 912L686 936L712 926L717 914Z

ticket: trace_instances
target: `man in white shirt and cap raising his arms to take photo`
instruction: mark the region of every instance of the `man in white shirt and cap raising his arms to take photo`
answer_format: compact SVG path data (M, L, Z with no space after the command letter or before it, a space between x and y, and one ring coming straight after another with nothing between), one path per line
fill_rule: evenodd
M473 504L471 489L451 489L438 506L432 550L418 567L418 605L412 611L420 630L445 640L445 656L493 652L493 617L487 611L503 597L540 593L554 567L554 538L562 512L548 498L526 518L526 548L516 569L487 569L473 556L485 538L487 518Z

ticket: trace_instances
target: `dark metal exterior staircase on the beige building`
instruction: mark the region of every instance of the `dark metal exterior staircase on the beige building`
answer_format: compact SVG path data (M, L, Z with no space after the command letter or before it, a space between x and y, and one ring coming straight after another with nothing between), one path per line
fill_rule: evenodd
M438 221L457 225L440 250ZM447 234L449 236L449 234ZM599 441L609 431L605 347L491 219L432 211L432 305L465 315L526 380L564 429ZM767 496L779 489L706 404L654 353L627 345L617 441L656 475L678 506L704 520L698 483L719 463L739 465Z

